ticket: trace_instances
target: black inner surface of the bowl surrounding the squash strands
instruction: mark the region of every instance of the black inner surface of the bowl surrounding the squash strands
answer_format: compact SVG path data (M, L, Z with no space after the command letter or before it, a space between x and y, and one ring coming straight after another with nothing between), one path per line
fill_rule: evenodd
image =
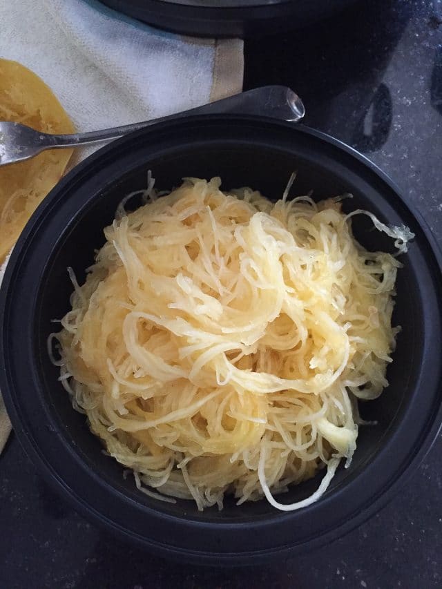
M186 176L209 179L219 175L224 189L252 186L272 200L282 195L289 176L297 171L296 181L291 189L292 195L313 191L313 197L320 200L352 193L353 198L345 200L343 204L347 211L367 209L378 215L383 222L395 225L405 223L412 226L412 229L415 229L414 220L408 215L407 209L401 209L398 202L389 202L383 182L376 184L377 181L361 180L360 175L344 164L334 162L333 158L318 157L314 151L310 153L308 147L295 153L288 148L253 145L247 141L232 144L224 140L206 145L204 151L198 144L191 144L149 157L144 162L134 158L132 164L117 174L117 179L109 177L108 182L102 182L95 193L86 195L84 191L88 187L79 184L79 211L66 227L60 227L58 242L48 255L41 279L38 312L35 315L34 332L37 335L33 344L39 360L39 374L44 381L41 394L48 407L48 415L59 424L61 436L64 436L66 443L81 457L88 469L104 479L116 492L164 514L234 523L251 519L256 521L268 516L274 519L284 517L284 514L271 508L267 501L245 503L238 507L232 499L227 499L222 512L213 508L201 514L191 501L177 501L175 505L170 505L153 501L137 492L133 478L129 476L126 481L123 479L123 467L113 458L104 456L102 444L89 432L84 416L73 410L68 395L57 382L58 370L50 363L46 354L46 339L54 330L51 320L61 318L68 311L68 300L73 287L66 268L73 267L79 282L84 281L85 269L93 262L94 250L104 244L104 226L112 222L117 204L124 195L146 186L148 169L151 169L158 189L171 189ZM137 203L134 201L132 205L135 208ZM363 215L354 218L354 233L367 249L394 251L392 240L374 230L372 223ZM377 424L360 428L353 463L347 470L340 468L328 494L339 492L381 452L387 438L394 436L398 430L407 405L416 393L418 367L421 365L424 348L425 313L419 287L421 255L419 240L416 240L410 247L410 253L403 255L404 266L398 272L398 296L393 322L394 325L401 325L402 331L397 338L394 362L387 372L390 386L380 398L360 403L362 416L368 420L376 420ZM316 489L320 476L292 487L287 494L280 495L279 500L289 503L304 498Z

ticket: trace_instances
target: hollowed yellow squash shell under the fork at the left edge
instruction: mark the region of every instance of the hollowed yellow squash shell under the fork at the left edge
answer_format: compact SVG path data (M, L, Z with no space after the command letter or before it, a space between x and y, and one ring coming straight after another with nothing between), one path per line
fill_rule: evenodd
M17 61L0 59L0 120L44 133L73 133L74 126L44 81ZM23 227L63 175L72 149L50 150L0 167L0 264Z

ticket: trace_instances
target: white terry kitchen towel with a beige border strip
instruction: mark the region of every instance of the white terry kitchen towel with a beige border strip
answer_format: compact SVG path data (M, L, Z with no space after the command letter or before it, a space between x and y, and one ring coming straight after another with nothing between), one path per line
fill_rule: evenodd
M0 57L39 75L78 131L162 117L242 90L240 39L173 35L96 0L0 0ZM75 152L73 162L96 148ZM0 401L0 452L6 420Z

